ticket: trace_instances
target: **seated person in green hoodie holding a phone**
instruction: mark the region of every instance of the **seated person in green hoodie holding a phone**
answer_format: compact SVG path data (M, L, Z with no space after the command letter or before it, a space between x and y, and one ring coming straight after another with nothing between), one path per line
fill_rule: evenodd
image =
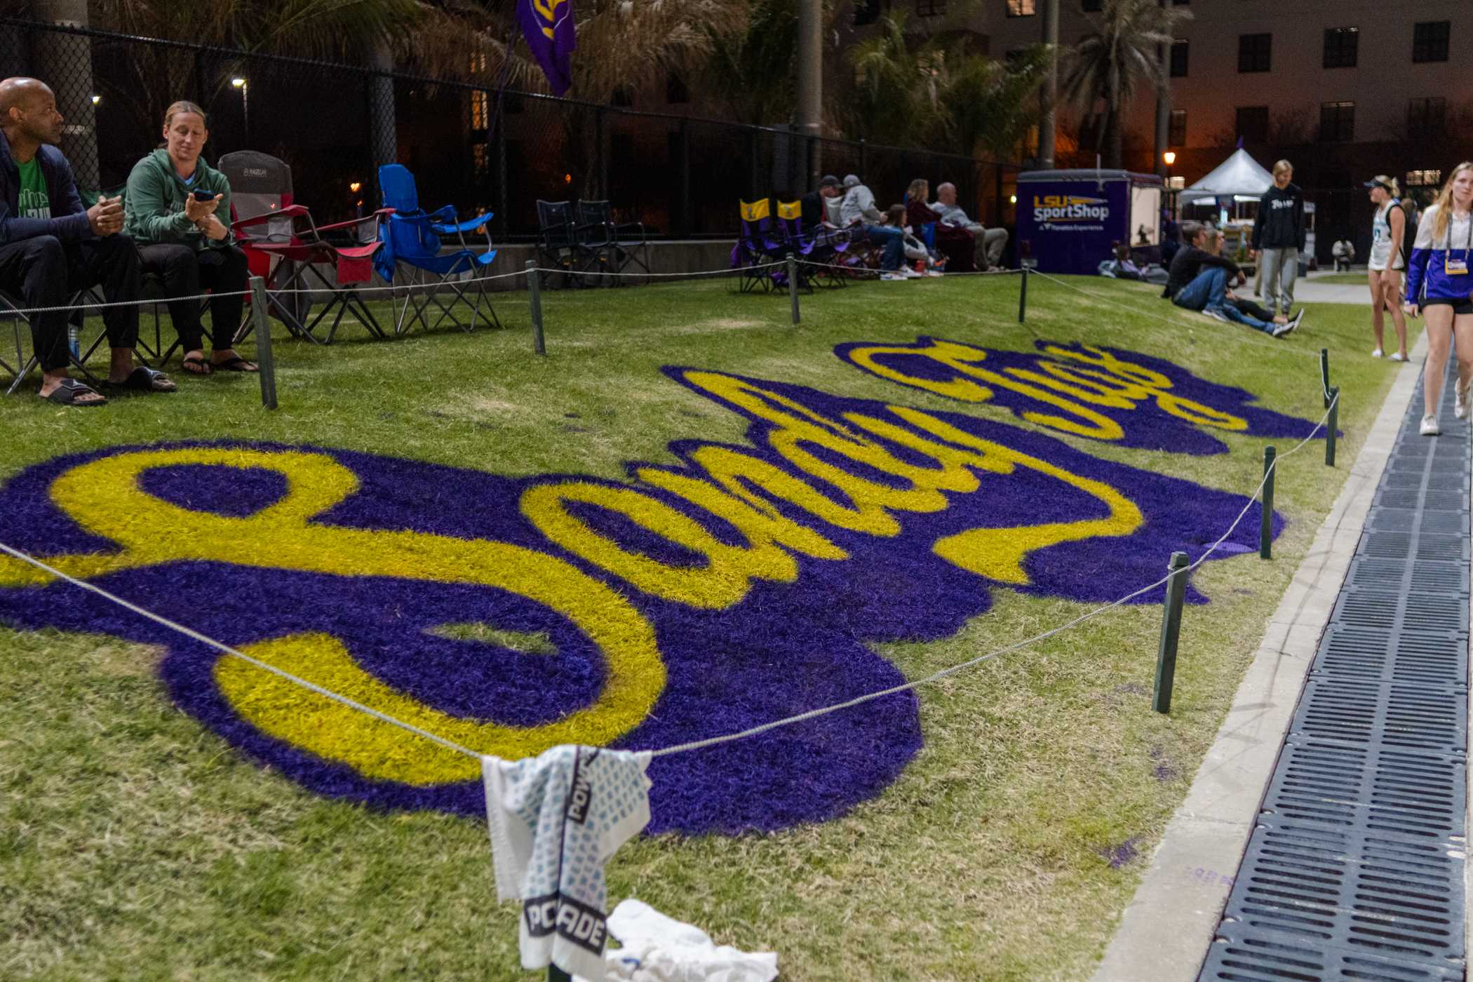
M124 230L138 243L143 271L164 280L169 317L184 346L184 370L256 371L231 345L245 309L246 253L230 234L230 181L200 152L209 138L205 110L177 102L164 113L165 144L136 165L124 196ZM211 299L211 356L205 359L205 328L197 297ZM231 296L234 294L234 296Z

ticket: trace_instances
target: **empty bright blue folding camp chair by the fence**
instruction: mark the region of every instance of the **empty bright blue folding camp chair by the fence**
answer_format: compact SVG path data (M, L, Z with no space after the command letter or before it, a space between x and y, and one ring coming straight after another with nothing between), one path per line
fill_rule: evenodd
M485 299L485 290L480 289L485 271L496 258L496 250L491 247L491 230L486 228L492 215L488 212L460 221L452 205L426 213L420 209L420 193L414 186L414 175L402 163L386 163L379 168L379 190L383 193L383 206L387 215L384 215L386 221L379 225L383 247L374 256L374 268L389 284L393 284L395 272L404 268L405 275L401 284L432 287L423 292L414 289L405 292L404 306L395 312L393 333L404 334L415 321L426 330L433 330L446 318L463 331L473 331L476 319L480 317L482 303L486 305L491 322L501 327L496 311ZM465 241L465 233L476 231L486 236L485 252L473 252L470 243ZM460 249L443 252L442 236L452 237L451 244L458 243ZM477 284L474 303L467 296L470 284ZM455 294L449 303L440 300L440 287L449 287ZM415 299L418 293L423 296ZM398 305L398 299L395 303ZM457 303L470 308L470 324L461 324L460 318L455 317ZM440 311L435 324L430 324L427 318L430 305Z

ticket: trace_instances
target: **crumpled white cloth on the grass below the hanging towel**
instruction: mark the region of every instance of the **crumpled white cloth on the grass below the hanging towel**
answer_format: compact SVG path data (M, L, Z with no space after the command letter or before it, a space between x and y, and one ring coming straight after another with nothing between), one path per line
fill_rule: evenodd
M622 948L604 951L608 979L623 982L772 982L778 955L717 945L683 920L667 917L638 900L626 900L608 914L608 933ZM586 982L573 976L574 982Z

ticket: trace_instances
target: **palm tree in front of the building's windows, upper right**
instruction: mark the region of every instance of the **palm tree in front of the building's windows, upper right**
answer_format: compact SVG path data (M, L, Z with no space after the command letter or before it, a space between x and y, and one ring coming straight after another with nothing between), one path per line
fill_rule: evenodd
M1158 0L1105 0L1094 31L1074 47L1064 75L1065 99L1096 124L1097 147L1118 168L1124 158L1121 116L1142 81L1159 94L1167 88L1156 46L1171 46L1178 25L1192 13L1158 6ZM1103 100L1103 119L1097 103Z

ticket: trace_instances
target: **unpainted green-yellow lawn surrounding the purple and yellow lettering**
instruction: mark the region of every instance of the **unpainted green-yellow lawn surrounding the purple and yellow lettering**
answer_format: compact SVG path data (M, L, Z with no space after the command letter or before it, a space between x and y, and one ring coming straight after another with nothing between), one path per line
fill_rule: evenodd
M392 343L349 331L331 347L277 334L278 411L262 411L245 375L175 371L177 395L88 411L44 403L31 387L0 400L10 434L0 474L66 452L228 437L513 477L622 478L626 461L670 462L670 440L741 443L745 421L667 380L663 365L1038 430L991 403L863 374L831 352L918 334L1018 350L1037 339L1111 345L1318 420L1315 355L1329 347L1343 392L1340 464L1323 467L1318 443L1284 461L1276 505L1287 526L1273 562L1245 554L1195 576L1211 602L1186 612L1170 717L1149 707L1161 610L1121 608L922 689L922 749L844 817L739 836L645 836L608 866L611 904L639 897L717 942L775 950L784 979L1080 979L1393 372L1411 368L1363 356L1360 308L1311 306L1305 325L1276 342L1173 311L1136 284L1071 283L1114 303L1036 277L1019 325L1013 278L875 283L804 297L794 327L785 296L736 296L707 281L548 294L546 358L532 353L526 294L498 302L501 331ZM1217 456L1059 439L1240 493L1261 477L1264 445L1282 452L1295 442L1220 436L1230 453ZM1122 595L1140 583L1118 586ZM1090 607L1005 586L993 596L955 636L876 649L919 677ZM189 621L208 604L180 598L165 612ZM156 648L57 630L0 630L0 976L530 978L517 969L518 908L495 901L483 823L342 804L258 767L171 704Z

